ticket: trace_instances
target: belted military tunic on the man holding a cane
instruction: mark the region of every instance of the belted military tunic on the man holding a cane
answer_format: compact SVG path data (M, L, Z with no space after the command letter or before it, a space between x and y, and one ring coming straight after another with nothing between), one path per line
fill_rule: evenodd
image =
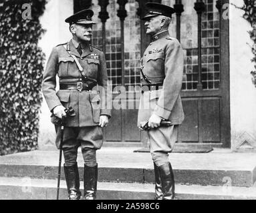
M57 105L74 108L76 116L69 117L66 126L97 126L100 115L111 116L111 97L107 85L108 75L104 53L96 47L84 45L82 55L80 55L75 47L78 43L72 39L67 45L70 53L77 57L86 76L96 79L102 93L98 93L97 87L93 91L60 89L56 93L56 75L59 77L59 84L82 82L82 74L78 65L66 50L65 45L54 47L49 56L43 75L43 95L51 111Z

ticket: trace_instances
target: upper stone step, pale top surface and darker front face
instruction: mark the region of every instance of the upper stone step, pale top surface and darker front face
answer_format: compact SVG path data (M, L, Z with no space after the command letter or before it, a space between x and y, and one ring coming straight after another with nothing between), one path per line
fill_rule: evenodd
M154 169L150 153L136 153L138 148L102 148L97 160L100 182L153 183ZM79 150L80 152L80 150ZM255 153L233 153L215 149L210 153L171 153L170 162L178 184L203 186L251 187L256 180ZM0 156L0 177L56 179L58 151L21 152ZM63 163L62 163L63 164ZM84 160L78 154L80 179ZM63 168L61 179L64 180Z

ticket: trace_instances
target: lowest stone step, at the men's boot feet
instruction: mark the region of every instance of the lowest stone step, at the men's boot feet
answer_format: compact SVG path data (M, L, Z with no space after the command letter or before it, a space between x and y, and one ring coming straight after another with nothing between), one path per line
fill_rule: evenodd
M56 180L1 177L0 199L55 200L56 186ZM80 182L80 186L83 186L83 182ZM59 199L66 199L66 196L66 182L61 180ZM97 198L98 200L152 200L154 198L154 184L98 182ZM176 198L178 200L256 200L256 188L176 184Z

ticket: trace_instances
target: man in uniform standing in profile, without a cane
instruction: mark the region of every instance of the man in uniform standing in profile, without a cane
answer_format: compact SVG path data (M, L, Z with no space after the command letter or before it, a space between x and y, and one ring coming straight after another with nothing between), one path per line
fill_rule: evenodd
M178 124L184 120L180 89L183 75L183 51L177 39L170 37L168 27L174 9L159 3L146 3L143 17L146 33L152 42L141 60L142 93L138 126L148 120L150 153L156 179L155 199L171 200L175 196L174 175L168 160L177 139ZM169 120L170 126L161 126Z

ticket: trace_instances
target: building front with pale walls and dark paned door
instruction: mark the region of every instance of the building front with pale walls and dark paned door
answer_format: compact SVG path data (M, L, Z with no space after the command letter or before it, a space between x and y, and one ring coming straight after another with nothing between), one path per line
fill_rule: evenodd
M104 141L116 146L146 144L136 126L140 98L140 59L150 38L146 35L142 0L48 0L41 24L47 30L39 44L46 56L55 45L71 38L64 19L90 7L94 10L92 45L106 55L113 89L112 119ZM185 120L178 130L177 145L253 148L256 146L255 87L251 83L253 55L243 11L229 0L154 1L174 7L170 35L184 50L182 104ZM243 5L236 0L234 5ZM51 20L55 20L53 23ZM50 22L51 21L51 22ZM120 90L126 93L120 95ZM126 95L124 95L126 94ZM118 103L122 103L118 105ZM43 102L39 147L54 146L55 132Z

